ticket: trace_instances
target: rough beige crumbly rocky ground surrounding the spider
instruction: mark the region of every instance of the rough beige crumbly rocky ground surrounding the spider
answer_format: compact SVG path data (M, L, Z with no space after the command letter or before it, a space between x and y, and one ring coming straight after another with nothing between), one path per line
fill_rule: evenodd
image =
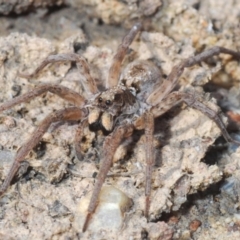
M240 47L240 3L233 0L0 1L0 14L1 103L41 83L61 84L84 95L74 64L54 64L32 79L19 77L19 72L33 72L50 54L81 54L101 87L117 46L137 21L143 22L143 31L123 69L136 59L149 60L165 77L181 59L205 49ZM219 105L228 116L222 118L230 122L229 132L239 139L240 66L230 60L221 55L186 69L179 88L194 91L216 111ZM1 181L39 122L67 106L45 93L1 113ZM105 136L86 129L79 160L73 148L77 124L52 124L28 155L25 171L0 199L0 239L240 237L240 152L225 143L212 120L185 105L156 119L150 221L143 216L144 135L135 132L131 150L127 143L119 147L96 214L82 233Z

